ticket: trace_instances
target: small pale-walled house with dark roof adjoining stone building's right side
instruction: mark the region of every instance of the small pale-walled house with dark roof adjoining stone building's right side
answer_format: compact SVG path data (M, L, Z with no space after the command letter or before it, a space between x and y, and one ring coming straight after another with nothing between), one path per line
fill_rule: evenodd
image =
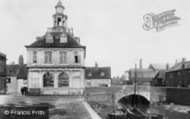
M98 67L96 63L95 67L86 67L85 69L86 87L101 87L111 86L111 68L110 67Z

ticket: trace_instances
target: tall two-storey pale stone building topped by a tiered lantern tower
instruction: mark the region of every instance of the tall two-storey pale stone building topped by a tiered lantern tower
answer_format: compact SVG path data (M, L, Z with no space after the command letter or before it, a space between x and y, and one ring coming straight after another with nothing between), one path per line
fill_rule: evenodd
M61 1L55 9L54 26L26 46L29 94L82 94L86 47L67 27L68 17Z

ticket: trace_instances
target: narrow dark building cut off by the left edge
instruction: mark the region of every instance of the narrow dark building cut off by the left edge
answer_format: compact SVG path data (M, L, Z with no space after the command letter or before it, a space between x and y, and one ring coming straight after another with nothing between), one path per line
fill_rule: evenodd
M6 55L0 53L0 94L6 94Z

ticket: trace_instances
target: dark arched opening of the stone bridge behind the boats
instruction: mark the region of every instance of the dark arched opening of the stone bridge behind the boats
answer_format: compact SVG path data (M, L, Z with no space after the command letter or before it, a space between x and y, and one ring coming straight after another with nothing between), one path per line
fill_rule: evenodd
M144 112L149 112L150 101L142 95L127 95L118 101L118 104L122 108L128 108L130 106L137 107Z

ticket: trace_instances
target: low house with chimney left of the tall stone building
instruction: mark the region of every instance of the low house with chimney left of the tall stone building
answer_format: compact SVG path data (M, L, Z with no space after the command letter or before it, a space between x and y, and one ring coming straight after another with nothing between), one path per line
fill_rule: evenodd
M27 67L24 64L22 55L19 57L19 63L14 62L7 65L7 93L21 93L22 87L27 87Z

